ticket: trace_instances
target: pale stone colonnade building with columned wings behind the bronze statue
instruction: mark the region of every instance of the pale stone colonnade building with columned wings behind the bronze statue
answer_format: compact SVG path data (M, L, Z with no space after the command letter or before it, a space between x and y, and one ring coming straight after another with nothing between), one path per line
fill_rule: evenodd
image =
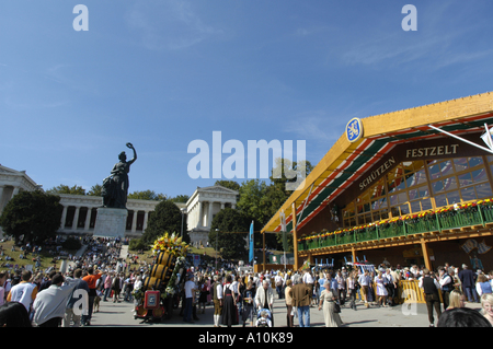
M0 214L7 202L21 191L33 191L42 186L36 184L25 171L15 171L0 165ZM191 243L207 245L208 232L214 216L226 207L236 208L238 191L222 186L210 186L194 191L188 201L175 202L183 214L183 229L188 231ZM103 199L99 196L58 194L64 207L59 234L92 235L98 217L98 208ZM127 200L127 222L125 236L140 237L152 216L156 200ZM2 235L0 228L0 236Z

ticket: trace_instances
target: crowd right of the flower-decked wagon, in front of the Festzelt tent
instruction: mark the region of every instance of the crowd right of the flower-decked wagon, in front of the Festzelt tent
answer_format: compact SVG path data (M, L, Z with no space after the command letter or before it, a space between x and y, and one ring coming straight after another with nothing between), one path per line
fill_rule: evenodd
M188 303L183 305L188 312L185 311L183 321L191 323L190 314L196 316L192 304L204 309L205 304L213 303L215 327L238 325L241 321L243 326L248 323L250 326L259 326L260 323L274 326L273 301L276 296L285 300L287 327L295 326L295 318L300 327L310 327L311 307L323 311L325 326L339 327L343 324L341 307L357 311L358 305L369 309L400 304L400 281L417 282L424 294L431 326L435 326L434 312L438 319L451 310L468 312L463 310L466 300L481 303L483 325L493 325L493 272L473 272L466 265L459 269L448 264L437 268L436 272L424 266L401 268L386 264L378 267L348 266L337 270L191 272L185 286ZM191 313L191 310L194 311ZM449 314L446 315L450 318Z

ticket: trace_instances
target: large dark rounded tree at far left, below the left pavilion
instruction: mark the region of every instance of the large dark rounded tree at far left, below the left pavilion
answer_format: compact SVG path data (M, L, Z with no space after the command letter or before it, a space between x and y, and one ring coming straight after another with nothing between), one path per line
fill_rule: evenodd
M41 244L56 237L62 210L57 195L42 190L21 191L5 205L0 226L7 235L15 239L15 243Z

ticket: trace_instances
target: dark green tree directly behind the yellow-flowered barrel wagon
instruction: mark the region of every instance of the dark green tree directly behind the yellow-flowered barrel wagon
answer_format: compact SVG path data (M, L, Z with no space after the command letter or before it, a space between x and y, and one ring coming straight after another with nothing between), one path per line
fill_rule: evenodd
M152 244L165 232L170 234L180 234L182 229L182 212L174 202L163 200L156 206L154 211L149 218L147 229L142 234L142 242ZM186 233L186 219L183 220L183 241L190 243L190 236Z

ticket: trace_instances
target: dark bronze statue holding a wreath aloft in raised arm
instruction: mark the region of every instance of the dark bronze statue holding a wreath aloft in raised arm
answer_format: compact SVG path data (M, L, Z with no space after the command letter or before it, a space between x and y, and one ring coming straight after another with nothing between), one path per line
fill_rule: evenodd
M119 162L113 166L112 174L103 179L103 207L127 208L128 173L130 172L130 165L137 160L137 152L131 143L126 146L134 151L134 158L127 161L125 152L121 152L118 155Z

